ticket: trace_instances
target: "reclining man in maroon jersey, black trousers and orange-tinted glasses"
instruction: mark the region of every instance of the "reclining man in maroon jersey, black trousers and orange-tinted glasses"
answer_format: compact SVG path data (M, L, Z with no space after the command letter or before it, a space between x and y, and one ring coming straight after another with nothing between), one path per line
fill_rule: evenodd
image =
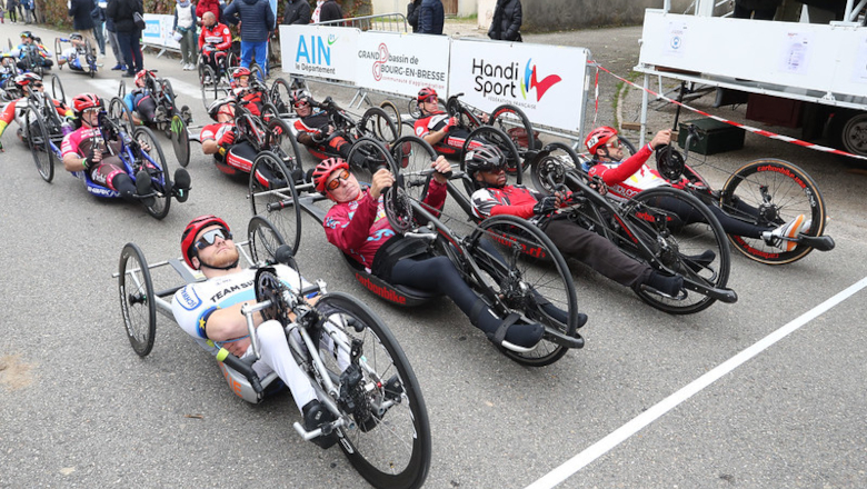
M423 202L428 208L441 209L446 201L445 173L450 171L450 164L439 157L431 167L436 172ZM362 189L346 161L332 158L319 163L313 171L313 184L335 202L323 221L328 241L387 282L448 296L492 341L499 337L522 348L536 346L542 337L541 325L498 318L447 257L435 257L428 252L427 242L395 232L382 202L382 192L393 183L393 174L380 169L373 174L371 187ZM580 325L584 321L586 317ZM500 331L501 328L506 330Z

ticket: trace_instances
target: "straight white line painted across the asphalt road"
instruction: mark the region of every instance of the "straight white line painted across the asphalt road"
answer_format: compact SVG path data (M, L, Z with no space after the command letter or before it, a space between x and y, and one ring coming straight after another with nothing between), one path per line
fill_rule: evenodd
M672 393L671 396L662 399L652 408L632 418L631 421L621 426L620 428L612 431L607 437L591 445L590 447L588 447L580 453L576 455L571 459L567 460L560 467L557 467L556 469L551 470L550 472L548 472L547 475L538 479L536 482L527 486L527 489L547 489L559 485L560 482L565 481L566 479L568 479L569 477L574 476L576 472L585 468L590 462L595 461L599 457L604 456L605 453L607 453L608 451L610 451L611 449L614 449L615 447L624 442L632 435L637 433L638 431L642 430L651 422L656 421L657 419L666 415L668 411L675 409L681 402L686 401L694 395L700 392L706 387L716 382L726 373L731 372L736 368L744 365L746 361L756 357L758 353L770 348L777 341L797 331L804 325L816 319L824 312L830 310L831 308L843 302L844 300L848 299L849 297L851 297L859 290L864 289L865 287L867 287L867 277L863 278L855 285L848 287L846 290L843 290L841 292L837 293L836 296L831 297L830 299L815 307L813 310L807 311L800 317L794 319L788 325L781 327L780 329L760 339L749 348L743 350L740 353L720 363L715 369L710 370L709 372L694 380L692 382L690 382L682 389L678 390L677 392Z

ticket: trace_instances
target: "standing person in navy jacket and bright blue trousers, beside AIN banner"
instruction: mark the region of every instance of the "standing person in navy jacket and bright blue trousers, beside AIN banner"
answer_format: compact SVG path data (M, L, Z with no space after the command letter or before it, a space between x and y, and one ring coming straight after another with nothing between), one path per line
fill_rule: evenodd
M275 14L268 0L235 0L222 11L227 19L237 19L241 27L241 66L256 62L268 73L268 38L275 28Z

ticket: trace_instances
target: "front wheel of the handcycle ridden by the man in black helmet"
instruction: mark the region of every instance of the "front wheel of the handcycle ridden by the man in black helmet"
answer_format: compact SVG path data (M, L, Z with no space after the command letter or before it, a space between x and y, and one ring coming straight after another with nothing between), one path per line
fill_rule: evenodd
M685 212L672 212L670 209L675 206L700 216L700 220L681 222L677 216ZM698 198L671 187L656 187L639 192L624 206L624 210L637 232L652 247L651 251L658 262L665 267L655 267L659 272L681 275L685 279L718 289L726 287L731 267L728 240L722 226ZM637 244L631 238L624 233L621 239L621 248L641 260L642 257L635 252ZM714 253L712 260L702 260L699 265L692 259L708 250ZM688 290L674 299L646 289L638 289L636 293L654 308L672 315L691 315L707 309L716 301Z

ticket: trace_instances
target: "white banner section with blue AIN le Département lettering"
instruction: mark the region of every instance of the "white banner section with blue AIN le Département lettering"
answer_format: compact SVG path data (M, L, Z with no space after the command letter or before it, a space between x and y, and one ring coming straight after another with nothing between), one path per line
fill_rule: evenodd
M359 33L347 27L280 26L283 71L355 83Z

